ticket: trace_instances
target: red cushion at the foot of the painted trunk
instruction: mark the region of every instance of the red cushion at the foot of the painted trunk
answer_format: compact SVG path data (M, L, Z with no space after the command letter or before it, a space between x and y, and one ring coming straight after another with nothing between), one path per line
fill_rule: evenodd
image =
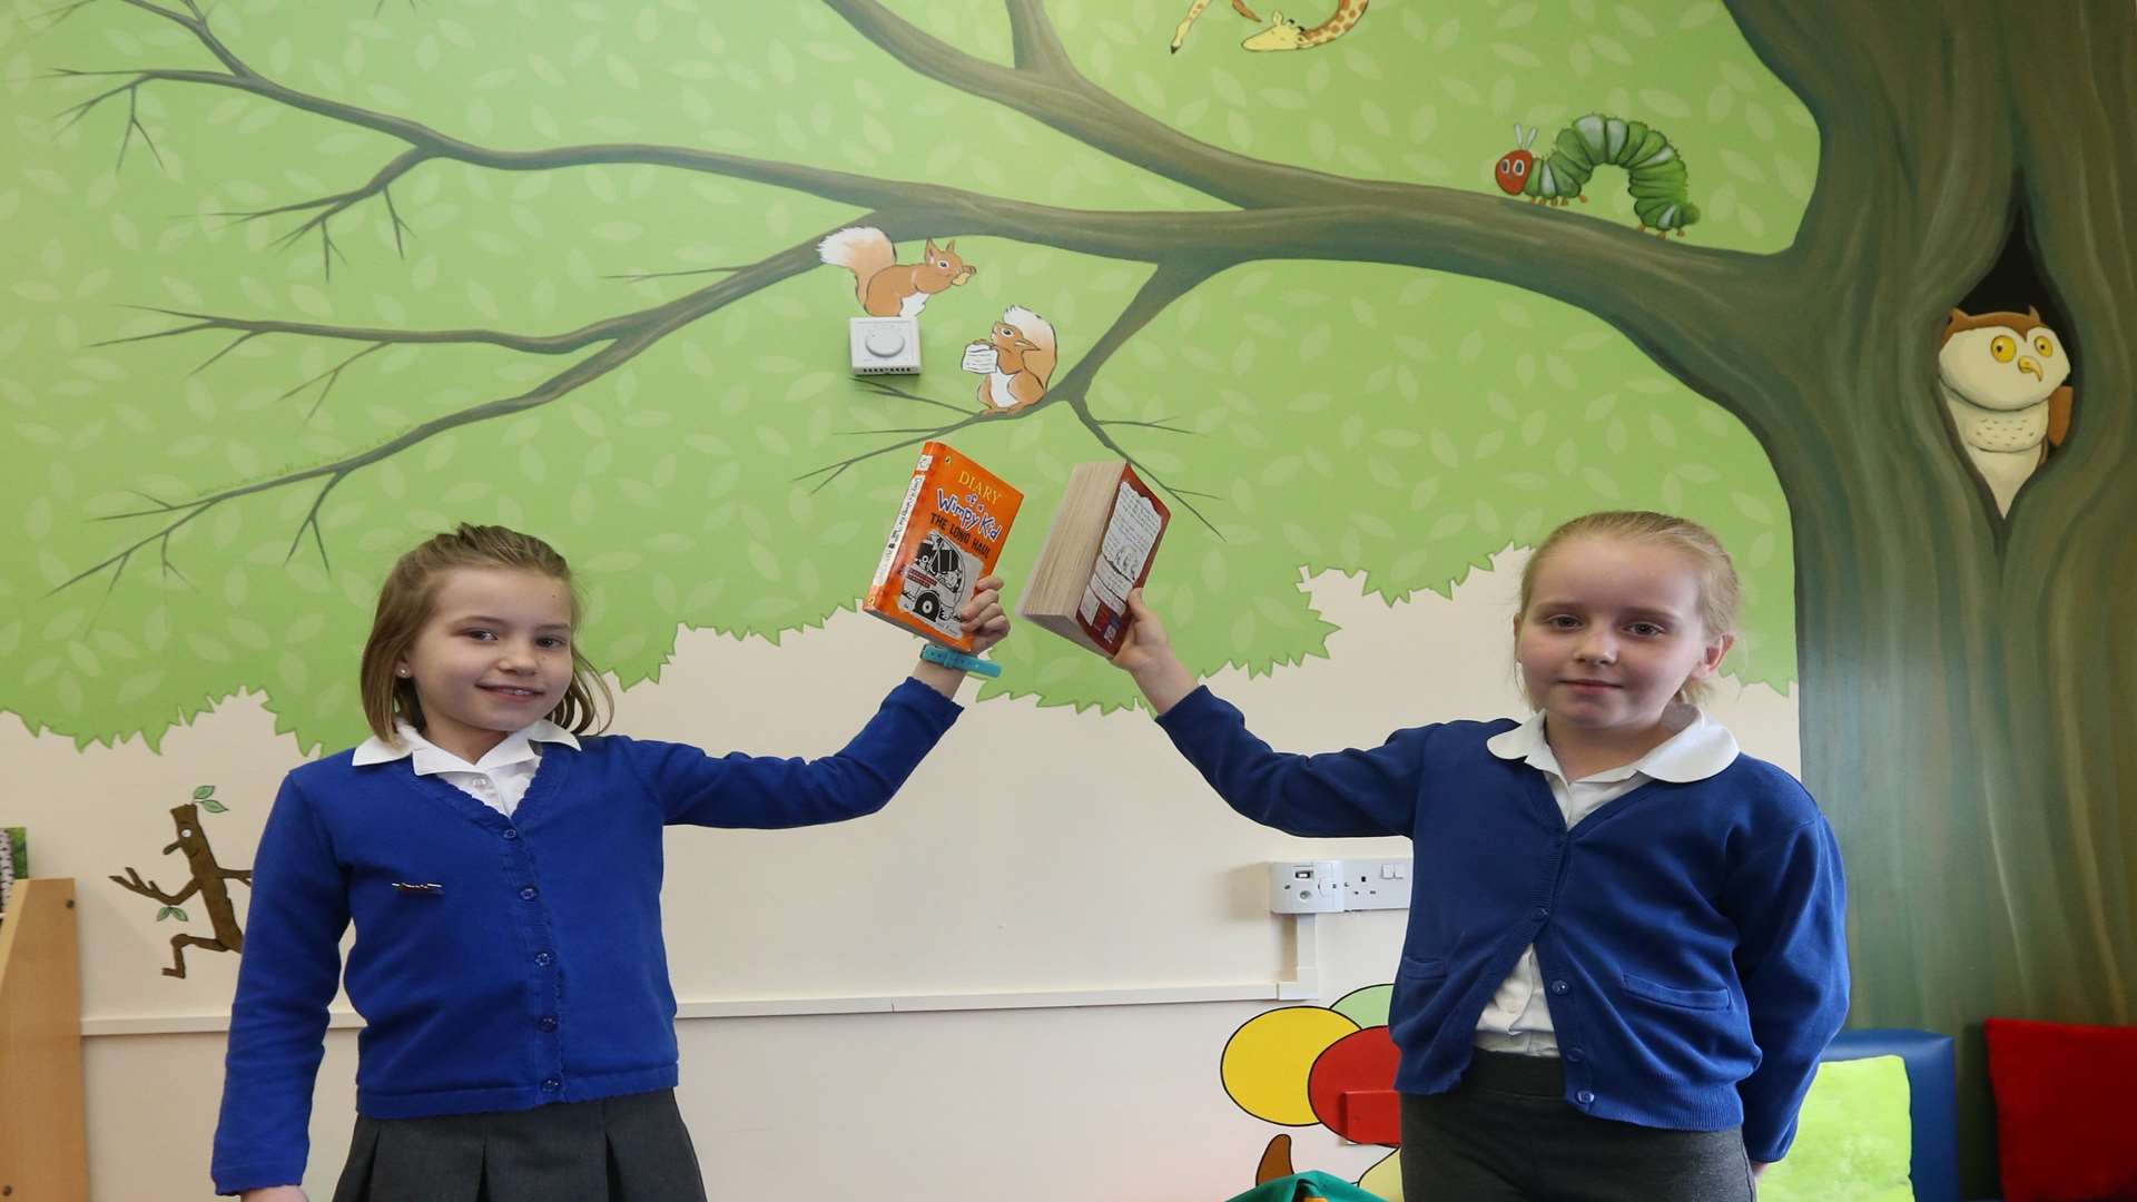
M2137 1200L2137 1027L1983 1029L2005 1202Z

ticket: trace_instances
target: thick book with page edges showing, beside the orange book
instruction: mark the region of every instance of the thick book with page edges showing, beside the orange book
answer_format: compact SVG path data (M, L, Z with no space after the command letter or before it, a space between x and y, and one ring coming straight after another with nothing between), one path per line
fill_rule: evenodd
M1122 462L1077 464L1019 610L1098 654L1128 637L1128 590L1150 580L1171 509Z

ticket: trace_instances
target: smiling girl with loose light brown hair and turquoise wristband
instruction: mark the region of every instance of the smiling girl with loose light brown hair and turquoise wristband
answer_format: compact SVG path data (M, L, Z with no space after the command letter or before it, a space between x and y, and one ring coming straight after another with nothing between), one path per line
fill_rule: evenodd
M1009 633L1002 582L962 618ZM703 1202L675 1108L662 828L870 815L957 719L921 661L836 755L603 736L571 567L459 526L387 575L363 646L372 738L291 772L254 858L214 1178L301 1202L338 982L365 1018L336 1202ZM346 975L342 935L355 924Z

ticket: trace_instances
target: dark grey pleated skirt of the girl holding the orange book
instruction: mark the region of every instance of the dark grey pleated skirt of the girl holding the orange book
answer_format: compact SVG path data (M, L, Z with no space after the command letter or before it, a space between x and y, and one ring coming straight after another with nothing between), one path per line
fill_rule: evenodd
M357 1116L333 1202L705 1202L675 1091L534 1110Z

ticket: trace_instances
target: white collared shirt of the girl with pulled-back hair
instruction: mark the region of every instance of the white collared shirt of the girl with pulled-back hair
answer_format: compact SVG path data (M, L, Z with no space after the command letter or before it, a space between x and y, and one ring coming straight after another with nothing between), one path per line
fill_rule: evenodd
M1551 744L1543 738L1543 714L1532 714L1511 731L1492 736L1485 746L1500 759L1526 759L1551 785L1558 813L1566 817L1566 830L1603 804L1613 802L1648 781L1690 783L1729 768L1737 757L1735 736L1729 727L1710 719L1697 706L1671 706L1663 723L1678 734L1660 746L1641 755L1633 764L1605 768L1594 776L1566 781ZM1537 965L1537 947L1528 945L1522 958L1492 995L1492 1005L1477 1018L1479 1048L1492 1052L1522 1052L1530 1057L1556 1057L1558 1033L1551 1029L1551 1007L1543 995L1543 967Z

